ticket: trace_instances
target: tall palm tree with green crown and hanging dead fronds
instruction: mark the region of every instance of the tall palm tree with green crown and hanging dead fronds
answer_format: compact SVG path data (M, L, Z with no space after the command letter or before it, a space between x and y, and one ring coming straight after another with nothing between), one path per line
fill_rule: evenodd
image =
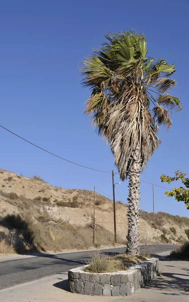
M167 93L175 64L147 56L147 42L136 31L108 33L99 50L82 65L83 84L92 90L86 113L110 145L120 178L129 178L127 253L140 254L140 174L161 142L159 125L171 127L170 113L181 109Z

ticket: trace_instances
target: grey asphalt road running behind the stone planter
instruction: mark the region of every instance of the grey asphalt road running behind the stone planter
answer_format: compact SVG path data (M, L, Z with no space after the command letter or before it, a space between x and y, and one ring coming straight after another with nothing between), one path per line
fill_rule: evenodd
M141 246L141 251L152 252L151 245ZM153 254L173 250L174 245L157 245ZM108 255L124 253L125 248L102 250ZM94 251L69 254L40 254L37 257L0 262L0 289L33 281L44 276L61 274L69 269L87 264Z

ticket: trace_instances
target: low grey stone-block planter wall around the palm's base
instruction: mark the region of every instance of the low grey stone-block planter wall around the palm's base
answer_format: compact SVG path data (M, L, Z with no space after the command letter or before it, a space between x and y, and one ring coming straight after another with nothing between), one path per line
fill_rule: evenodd
M145 286L156 277L159 260L150 258L131 266L127 271L115 273L87 273L85 266L68 272L69 291L87 295L125 296Z

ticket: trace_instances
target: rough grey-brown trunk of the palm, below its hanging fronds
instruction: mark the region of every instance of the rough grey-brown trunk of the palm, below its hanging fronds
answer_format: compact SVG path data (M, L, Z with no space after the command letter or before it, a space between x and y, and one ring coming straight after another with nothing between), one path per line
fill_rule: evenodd
M133 157L133 164L129 171L129 209L128 209L128 235L126 253L140 255L139 234L139 205L140 205L140 174L141 156L140 148L137 147Z

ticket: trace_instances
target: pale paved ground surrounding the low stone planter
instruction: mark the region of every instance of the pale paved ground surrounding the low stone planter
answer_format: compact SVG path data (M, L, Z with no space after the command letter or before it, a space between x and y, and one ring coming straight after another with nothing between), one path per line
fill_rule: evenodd
M67 274L57 274L0 290L2 302L188 302L189 262L160 259L162 275L132 296L102 297L67 291Z

